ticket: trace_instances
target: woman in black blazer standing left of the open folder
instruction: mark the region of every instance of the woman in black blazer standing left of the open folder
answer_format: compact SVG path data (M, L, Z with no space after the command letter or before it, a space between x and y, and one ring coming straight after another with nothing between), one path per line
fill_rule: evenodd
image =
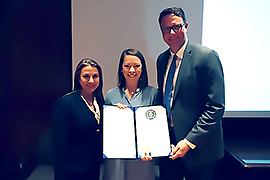
M89 58L77 65L74 89L53 113L55 180L98 180L102 160L101 67Z

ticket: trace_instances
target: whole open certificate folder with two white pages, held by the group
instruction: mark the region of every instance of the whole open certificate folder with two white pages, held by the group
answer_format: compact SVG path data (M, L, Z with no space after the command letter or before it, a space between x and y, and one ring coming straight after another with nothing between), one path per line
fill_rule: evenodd
M160 157L168 156L170 152L164 107L119 109L117 106L104 105L104 158L141 158L145 155Z

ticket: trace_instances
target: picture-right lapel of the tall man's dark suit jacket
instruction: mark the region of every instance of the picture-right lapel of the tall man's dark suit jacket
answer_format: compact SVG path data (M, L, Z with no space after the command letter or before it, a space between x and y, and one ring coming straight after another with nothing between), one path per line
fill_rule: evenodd
M178 72L178 75L177 75L177 80L176 80L175 89L174 89L174 95L173 95L173 102L174 102L174 99L175 99L176 95L179 92L179 89L180 89L180 86L181 86L181 81L182 81L182 79L184 77L184 74L185 74L185 72L187 70L187 67L188 67L188 65L190 63L191 56L192 56L192 48L190 46L190 43L188 42L186 50L184 52L182 62L180 64L180 69L179 69L179 72Z

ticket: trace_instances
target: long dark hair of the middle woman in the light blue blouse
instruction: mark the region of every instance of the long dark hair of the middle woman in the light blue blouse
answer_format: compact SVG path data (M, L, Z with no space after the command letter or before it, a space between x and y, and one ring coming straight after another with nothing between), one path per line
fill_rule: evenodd
M126 55L132 55L136 56L141 60L142 63L142 71L141 71L141 76L138 81L138 87L140 89L144 89L148 85L148 75L147 75L147 68L146 68L146 62L145 59L142 55L142 53L139 50L136 49L125 49L121 56L120 56L120 61L118 65L118 84L117 86L122 89L123 87L126 87L126 79L123 74L123 63Z

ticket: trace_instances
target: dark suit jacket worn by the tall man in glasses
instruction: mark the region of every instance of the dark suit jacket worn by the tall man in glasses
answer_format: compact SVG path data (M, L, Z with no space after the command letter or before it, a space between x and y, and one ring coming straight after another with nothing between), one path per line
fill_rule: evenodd
M162 102L169 49L157 59L158 98ZM224 154L221 119L225 108L224 76L217 53L188 42L175 85L171 115L177 141L196 145L184 156L188 167L198 167Z

